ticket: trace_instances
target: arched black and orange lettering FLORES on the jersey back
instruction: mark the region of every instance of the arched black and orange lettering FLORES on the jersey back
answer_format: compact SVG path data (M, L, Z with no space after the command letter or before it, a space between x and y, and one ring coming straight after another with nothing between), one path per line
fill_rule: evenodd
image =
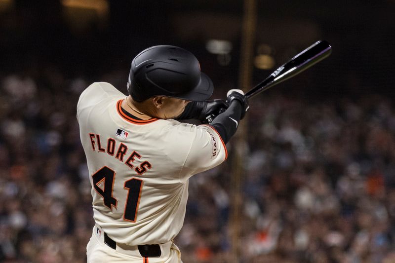
M151 169L152 165L148 161L143 161L138 166L135 166L133 163L136 161L136 158L140 160L141 155L135 150L128 150L125 144L117 142L114 138L108 138L107 145L104 146L102 142L105 141L105 139L100 139L99 134L88 133L88 136L92 144L92 150L97 151L98 153L107 153L114 156L130 169L136 171L139 175L142 175L147 172L147 170ZM129 154L127 155L126 153L128 152ZM125 156L128 157L125 158ZM123 161L124 159L125 161Z

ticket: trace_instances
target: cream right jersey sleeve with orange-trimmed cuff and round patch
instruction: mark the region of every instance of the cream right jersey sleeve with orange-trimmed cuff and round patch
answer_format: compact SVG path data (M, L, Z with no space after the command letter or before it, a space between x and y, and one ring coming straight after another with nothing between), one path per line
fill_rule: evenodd
M214 127L196 126L195 138L181 170L181 179L209 170L221 164L228 157L225 143Z

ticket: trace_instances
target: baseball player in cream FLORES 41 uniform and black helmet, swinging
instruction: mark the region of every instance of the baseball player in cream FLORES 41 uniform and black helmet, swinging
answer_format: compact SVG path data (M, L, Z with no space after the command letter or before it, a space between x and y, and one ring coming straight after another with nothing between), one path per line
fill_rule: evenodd
M125 98L96 82L77 105L96 223L87 261L179 263L173 239L183 225L188 179L227 158L225 144L248 103L241 90L207 100L213 84L197 58L169 45L133 59L127 90ZM177 120L209 114L216 116L211 124Z

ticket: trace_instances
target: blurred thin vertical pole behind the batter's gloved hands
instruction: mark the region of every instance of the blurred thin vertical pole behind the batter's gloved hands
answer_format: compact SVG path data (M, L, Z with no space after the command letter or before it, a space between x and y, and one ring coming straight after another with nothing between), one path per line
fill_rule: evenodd
M239 69L239 87L246 92L246 88L251 86L252 82L252 58L255 42L256 31L256 0L244 0L243 21L241 32L241 50L240 50L240 69ZM240 121L237 136L233 144L232 156L232 207L231 207L231 239L232 239L232 258L233 262L240 262L241 248L241 229L242 225L242 176L244 174L243 164L245 163L247 129L246 118Z

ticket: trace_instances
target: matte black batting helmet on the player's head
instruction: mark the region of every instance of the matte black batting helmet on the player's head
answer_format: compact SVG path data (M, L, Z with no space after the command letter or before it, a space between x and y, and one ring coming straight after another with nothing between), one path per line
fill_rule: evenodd
M149 47L132 61L127 90L135 101L168 96L204 101L213 93L211 79L200 72L197 58L171 45Z

